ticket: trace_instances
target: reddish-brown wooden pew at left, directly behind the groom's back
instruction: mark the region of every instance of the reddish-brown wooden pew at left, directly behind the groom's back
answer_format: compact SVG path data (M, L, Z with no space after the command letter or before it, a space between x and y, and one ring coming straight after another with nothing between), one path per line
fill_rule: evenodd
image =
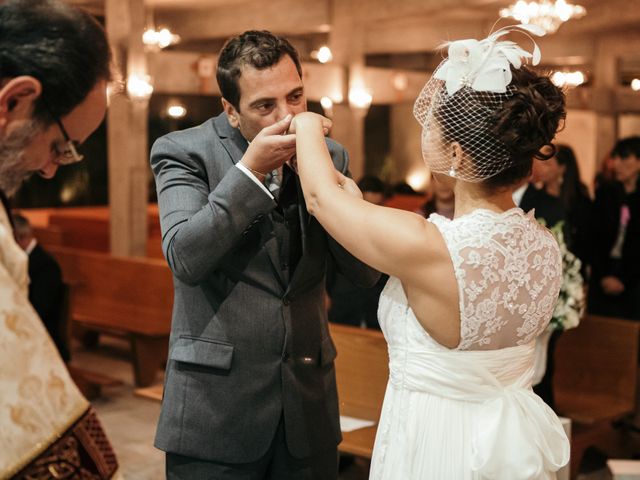
M71 287L71 321L129 338L136 386L151 385L167 359L173 280L162 260L51 248Z

